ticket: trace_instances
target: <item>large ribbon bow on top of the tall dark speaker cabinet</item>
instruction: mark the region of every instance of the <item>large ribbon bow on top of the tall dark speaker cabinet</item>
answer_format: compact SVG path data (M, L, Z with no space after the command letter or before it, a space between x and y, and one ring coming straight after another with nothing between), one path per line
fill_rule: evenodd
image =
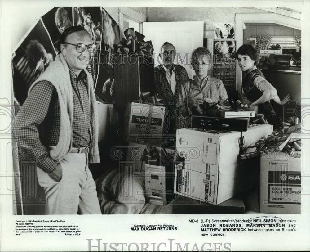
M117 47L120 48L121 53L135 53L137 55L146 54L152 56L153 45L152 41L145 42L143 39L145 36L139 32L135 32L133 28L128 28L124 31L125 37L117 44Z

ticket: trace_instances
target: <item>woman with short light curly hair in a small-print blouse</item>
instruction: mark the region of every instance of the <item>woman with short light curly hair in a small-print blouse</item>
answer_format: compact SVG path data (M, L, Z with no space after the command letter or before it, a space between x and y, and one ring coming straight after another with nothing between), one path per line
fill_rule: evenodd
M191 65L195 75L189 80L189 83L182 86L179 92L179 110L182 114L179 128L190 126L190 120L186 120L184 123L186 116L183 116L188 108L198 106L204 101L224 104L228 98L223 82L208 74L211 62L212 57L207 48L198 47L192 52Z

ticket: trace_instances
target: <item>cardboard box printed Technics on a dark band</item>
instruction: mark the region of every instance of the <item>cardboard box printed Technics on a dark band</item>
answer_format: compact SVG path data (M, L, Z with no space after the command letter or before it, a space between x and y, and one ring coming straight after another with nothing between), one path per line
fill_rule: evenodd
M160 144L163 133L168 128L168 125L164 123L165 111L164 106L127 103L124 117L124 140L136 142L139 138L139 140Z

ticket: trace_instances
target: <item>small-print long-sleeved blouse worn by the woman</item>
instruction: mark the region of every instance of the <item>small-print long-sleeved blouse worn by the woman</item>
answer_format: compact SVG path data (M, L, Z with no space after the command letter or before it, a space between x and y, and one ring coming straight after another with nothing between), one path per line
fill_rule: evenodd
M188 93L188 84L189 93ZM187 93L188 93L188 102L187 102ZM201 83L201 87L195 82L195 77L189 80L189 83L184 83L179 92L179 111L180 111L180 119L179 120L179 128L182 128L182 121L184 121L184 117L181 115L184 106L193 106L195 99L199 97L206 102L216 102L218 104L223 104L228 98L226 89L221 80L216 79L212 76L207 76L203 79ZM186 121L185 127L190 126L190 119Z

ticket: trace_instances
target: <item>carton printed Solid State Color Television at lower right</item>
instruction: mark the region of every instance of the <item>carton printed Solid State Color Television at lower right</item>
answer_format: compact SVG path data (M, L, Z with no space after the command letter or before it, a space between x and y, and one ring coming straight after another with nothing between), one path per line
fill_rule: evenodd
M301 213L301 161L287 152L260 158L259 210L267 214Z

